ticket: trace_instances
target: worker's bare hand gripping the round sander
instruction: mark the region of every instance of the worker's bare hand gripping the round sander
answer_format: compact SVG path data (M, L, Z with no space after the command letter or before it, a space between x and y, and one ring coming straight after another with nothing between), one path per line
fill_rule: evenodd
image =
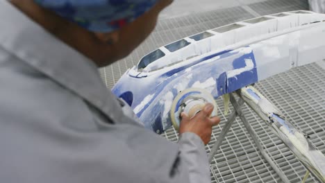
M203 110L191 119L184 112L181 114L182 121L179 127L179 134L185 132L192 132L201 137L203 143L206 145L211 139L213 126L219 124L220 118L218 116L210 117L213 112L213 105L208 103Z

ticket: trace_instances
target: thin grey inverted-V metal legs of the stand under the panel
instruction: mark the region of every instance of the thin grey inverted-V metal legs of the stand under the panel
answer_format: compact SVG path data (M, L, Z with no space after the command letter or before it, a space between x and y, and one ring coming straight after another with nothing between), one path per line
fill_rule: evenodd
M244 101L242 100L242 98L240 98L240 99L238 99L238 101L236 101L233 94L230 94L230 100L231 100L231 104L233 105L234 111L229 116L228 121L226 122L226 125L222 129L222 132L219 134L217 141L215 142L212 150L210 151L209 162L211 162L213 160L213 157L215 156L215 154L217 154L217 150L219 150L219 147L221 146L222 141L224 141L226 134L228 133L228 131L231 128L231 125L233 125L233 121L235 121L235 119L237 117L240 117L242 123L244 123L245 128L251 135L254 143L256 143L258 150L260 150L261 155L265 158L265 160L269 163L269 165L272 166L272 168L278 174L278 176L281 178L281 180L285 183L287 183L287 182L289 183L290 181L288 180L288 178L284 175L284 173L279 171L279 168L276 166L276 164L274 164L271 157L269 157L269 155L267 155L264 148L258 141L256 134L253 132L253 128L251 128L251 125L247 122L247 119L245 118L244 114L242 114L242 105L244 104Z

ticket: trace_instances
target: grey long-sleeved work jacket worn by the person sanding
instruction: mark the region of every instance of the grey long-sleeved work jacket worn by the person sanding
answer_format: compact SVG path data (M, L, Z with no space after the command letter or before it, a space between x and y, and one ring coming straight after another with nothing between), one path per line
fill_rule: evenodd
M210 182L196 134L144 129L91 60L8 1L0 24L0 182Z

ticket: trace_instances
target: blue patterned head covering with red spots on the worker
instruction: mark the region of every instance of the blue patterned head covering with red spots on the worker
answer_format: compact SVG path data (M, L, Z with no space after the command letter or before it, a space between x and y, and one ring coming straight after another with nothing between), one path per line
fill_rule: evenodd
M158 0L34 0L93 32L109 33L134 21Z

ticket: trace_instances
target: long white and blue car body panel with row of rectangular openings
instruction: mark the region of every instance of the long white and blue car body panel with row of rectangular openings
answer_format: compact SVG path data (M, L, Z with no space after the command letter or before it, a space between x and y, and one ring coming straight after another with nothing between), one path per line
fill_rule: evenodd
M241 21L160 47L146 63L144 56L126 71L112 91L131 105L146 128L161 133L172 125L172 101L183 89L207 89L217 98L325 59L324 40L325 15L313 12Z

